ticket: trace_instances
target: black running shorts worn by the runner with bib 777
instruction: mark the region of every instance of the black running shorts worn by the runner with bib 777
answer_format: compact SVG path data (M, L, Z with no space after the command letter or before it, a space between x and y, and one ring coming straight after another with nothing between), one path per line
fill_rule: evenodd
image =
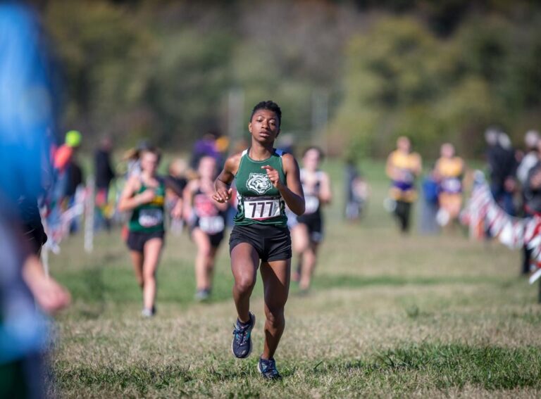
M263 262L291 258L291 236L287 227L264 224L235 224L229 238L229 252L240 243L253 246Z

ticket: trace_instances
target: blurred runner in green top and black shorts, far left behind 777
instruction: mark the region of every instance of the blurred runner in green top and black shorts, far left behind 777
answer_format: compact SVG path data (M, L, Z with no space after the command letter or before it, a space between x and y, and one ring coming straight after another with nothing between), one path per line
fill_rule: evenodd
M142 151L141 173L133 175L126 182L118 201L118 210L130 210L132 216L128 222L128 248L132 257L135 277L143 290L143 317L154 316L156 308L156 268L163 248L163 204L166 186L179 196L182 192L170 179L156 175L160 162L160 153L154 148ZM182 208L178 205L171 211L172 217L181 217Z

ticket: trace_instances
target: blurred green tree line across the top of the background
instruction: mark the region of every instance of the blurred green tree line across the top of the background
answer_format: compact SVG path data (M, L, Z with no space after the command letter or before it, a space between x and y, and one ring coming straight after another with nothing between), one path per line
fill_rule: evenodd
M533 1L50 0L44 25L63 126L91 144L182 150L232 118L241 137L261 99L282 106L297 144L344 156L385 156L402 134L428 156L443 141L478 156L487 126L520 144L541 122Z

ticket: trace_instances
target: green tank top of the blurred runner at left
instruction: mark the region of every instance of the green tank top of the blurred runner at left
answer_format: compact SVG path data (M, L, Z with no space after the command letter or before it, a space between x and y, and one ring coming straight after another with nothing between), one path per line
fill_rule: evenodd
M155 233L163 232L163 204L166 198L166 184L158 178L160 184L156 187L156 196L150 203L144 203L134 208L128 229L130 232ZM141 194L147 187L141 184L137 194Z

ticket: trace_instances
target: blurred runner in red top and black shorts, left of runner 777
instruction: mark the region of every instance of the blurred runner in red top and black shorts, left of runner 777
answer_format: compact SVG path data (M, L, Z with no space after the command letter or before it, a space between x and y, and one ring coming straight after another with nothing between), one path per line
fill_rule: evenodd
M223 240L228 204L212 199L216 160L204 156L199 160L197 171L199 177L189 182L184 191L184 215L197 244L195 298L206 300L211 294L214 260Z

